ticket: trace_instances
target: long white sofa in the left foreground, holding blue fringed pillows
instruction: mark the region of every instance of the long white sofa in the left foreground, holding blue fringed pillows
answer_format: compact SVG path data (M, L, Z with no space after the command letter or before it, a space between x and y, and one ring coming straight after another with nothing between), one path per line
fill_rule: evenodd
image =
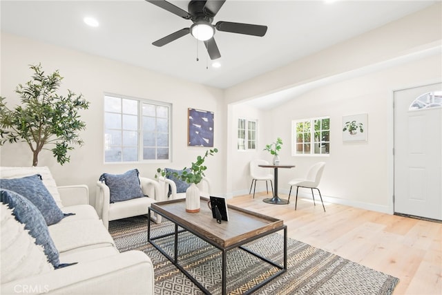
M61 211L75 213L48 228L60 262L77 264L1 282L0 294L154 294L151 259L142 251L119 253L88 204L87 186L57 187L47 167L0 167L1 178L37 173Z

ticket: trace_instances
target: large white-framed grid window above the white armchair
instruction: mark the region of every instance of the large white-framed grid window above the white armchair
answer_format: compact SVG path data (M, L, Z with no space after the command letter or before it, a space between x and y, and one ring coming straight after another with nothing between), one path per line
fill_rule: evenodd
M104 96L104 162L169 159L171 105Z

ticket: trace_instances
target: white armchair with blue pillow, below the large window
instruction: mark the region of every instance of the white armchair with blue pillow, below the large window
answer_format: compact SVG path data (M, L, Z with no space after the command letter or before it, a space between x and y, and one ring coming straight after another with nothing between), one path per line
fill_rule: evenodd
M109 221L148 214L151 204L160 200L162 195L158 182L150 178L140 177L140 184L144 195L148 197L111 203L109 187L104 182L97 181L95 209L106 229L109 228ZM157 214L153 214L151 218L156 223L161 222L161 216L157 216Z

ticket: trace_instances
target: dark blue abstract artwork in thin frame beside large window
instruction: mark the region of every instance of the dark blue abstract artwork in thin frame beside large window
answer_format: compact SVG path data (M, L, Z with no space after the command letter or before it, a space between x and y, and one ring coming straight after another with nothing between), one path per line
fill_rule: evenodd
M189 108L188 146L213 147L213 112Z

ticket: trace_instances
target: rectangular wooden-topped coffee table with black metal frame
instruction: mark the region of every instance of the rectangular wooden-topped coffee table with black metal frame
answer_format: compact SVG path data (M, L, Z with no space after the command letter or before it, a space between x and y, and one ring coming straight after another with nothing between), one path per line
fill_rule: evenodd
M195 285L197 285L204 294L210 294L209 291L191 276L178 263L178 234L182 231L189 231L198 238L209 242L209 244L220 249L222 251L222 294L227 294L227 251L240 248L253 256L260 258L261 260L269 263L273 267L278 268L278 272L263 280L258 285L255 285L251 289L247 290L244 294L251 294L251 292L269 283L270 280L279 276L287 271L287 225L284 225L282 220L271 218L259 213L251 212L229 205L229 221L222 221L218 224L214 218L212 218L212 212L209 207L206 206L208 202L207 198L201 198L201 209L198 213L187 213L185 199L171 200L165 202L155 202L151 204L149 208L149 222L148 222L148 242L158 249L166 258L168 258L173 265L175 265L180 271L185 274ZM171 220L175 225L175 231L170 234L164 234L162 236L151 237L151 211L160 214L164 218ZM183 230L179 230L179 227ZM277 231L284 231L284 260L283 265L279 265L273 261L268 260L253 251L242 247L258 238L262 238L269 234L273 234ZM155 240L164 238L166 236L175 236L174 245L174 257L167 254L159 245L155 243Z

